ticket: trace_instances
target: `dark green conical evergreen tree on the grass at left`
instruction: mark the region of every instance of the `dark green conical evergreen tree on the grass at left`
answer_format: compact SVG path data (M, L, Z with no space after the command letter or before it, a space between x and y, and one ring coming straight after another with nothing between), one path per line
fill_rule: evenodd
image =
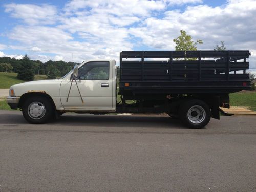
M29 59L26 54L22 59L22 69L18 71L17 78L25 81L34 80L34 70L32 69L33 62Z

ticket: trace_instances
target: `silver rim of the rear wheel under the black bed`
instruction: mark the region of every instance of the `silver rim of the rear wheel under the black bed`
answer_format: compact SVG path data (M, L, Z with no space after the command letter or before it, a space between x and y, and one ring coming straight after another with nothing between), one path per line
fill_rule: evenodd
M190 122L199 124L204 121L206 112L202 106L194 105L188 110L187 117Z

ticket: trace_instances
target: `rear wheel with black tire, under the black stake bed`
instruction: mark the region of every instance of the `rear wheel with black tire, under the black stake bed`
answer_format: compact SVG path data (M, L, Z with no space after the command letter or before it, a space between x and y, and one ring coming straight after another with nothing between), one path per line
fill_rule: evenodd
M188 100L180 106L179 117L186 126L201 129L210 121L210 108L201 100Z

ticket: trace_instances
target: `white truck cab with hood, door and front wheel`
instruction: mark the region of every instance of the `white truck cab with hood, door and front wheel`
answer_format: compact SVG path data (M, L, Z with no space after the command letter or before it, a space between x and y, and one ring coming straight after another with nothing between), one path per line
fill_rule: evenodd
M31 123L43 123L64 112L116 111L116 61L88 60L61 79L30 81L10 87L7 103L20 108ZM55 112L55 113L54 113Z

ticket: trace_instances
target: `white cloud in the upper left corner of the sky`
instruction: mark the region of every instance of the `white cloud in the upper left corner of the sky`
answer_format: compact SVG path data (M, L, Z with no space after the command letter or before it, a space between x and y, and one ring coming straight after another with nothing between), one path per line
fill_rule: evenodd
M23 19L29 25L54 24L57 10L54 6L43 4L6 4L5 12L12 17Z

